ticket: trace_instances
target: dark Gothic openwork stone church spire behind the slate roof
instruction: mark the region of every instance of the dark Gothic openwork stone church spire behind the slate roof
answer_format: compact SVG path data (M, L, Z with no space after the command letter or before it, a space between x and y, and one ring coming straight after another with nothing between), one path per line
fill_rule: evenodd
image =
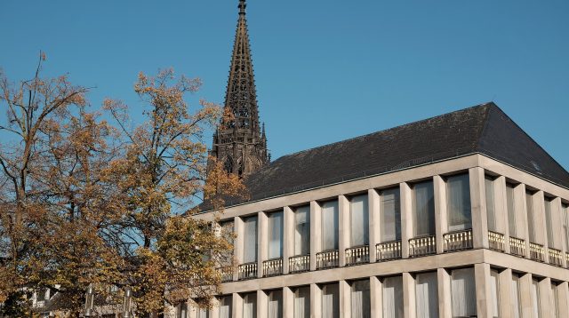
M259 121L251 48L245 19L245 1L239 1L239 20L224 110L230 114L213 134L211 155L226 171L247 176L270 161L264 124Z

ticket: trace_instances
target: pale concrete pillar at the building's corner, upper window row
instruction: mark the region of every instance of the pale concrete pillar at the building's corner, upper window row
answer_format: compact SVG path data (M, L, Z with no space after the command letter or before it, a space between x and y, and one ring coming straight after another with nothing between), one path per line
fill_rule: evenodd
M472 219L472 243L475 249L487 249L488 214L486 211L485 172L480 167L469 169L470 216Z

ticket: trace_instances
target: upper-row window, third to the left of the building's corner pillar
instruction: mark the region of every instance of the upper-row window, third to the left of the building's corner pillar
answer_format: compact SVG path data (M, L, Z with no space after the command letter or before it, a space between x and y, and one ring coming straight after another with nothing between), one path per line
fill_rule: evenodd
M381 242L401 241L399 187L381 191Z

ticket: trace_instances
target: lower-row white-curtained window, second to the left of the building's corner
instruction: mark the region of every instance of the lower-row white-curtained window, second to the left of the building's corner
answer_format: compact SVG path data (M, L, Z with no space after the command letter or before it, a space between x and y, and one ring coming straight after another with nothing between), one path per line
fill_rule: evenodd
M415 278L417 318L438 317L437 289L437 273L417 274Z

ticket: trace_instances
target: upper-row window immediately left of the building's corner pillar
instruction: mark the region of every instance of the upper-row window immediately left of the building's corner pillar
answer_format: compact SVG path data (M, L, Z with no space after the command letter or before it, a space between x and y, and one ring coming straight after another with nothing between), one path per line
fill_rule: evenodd
M470 179L468 174L446 179L448 229L459 231L472 228L470 218Z

